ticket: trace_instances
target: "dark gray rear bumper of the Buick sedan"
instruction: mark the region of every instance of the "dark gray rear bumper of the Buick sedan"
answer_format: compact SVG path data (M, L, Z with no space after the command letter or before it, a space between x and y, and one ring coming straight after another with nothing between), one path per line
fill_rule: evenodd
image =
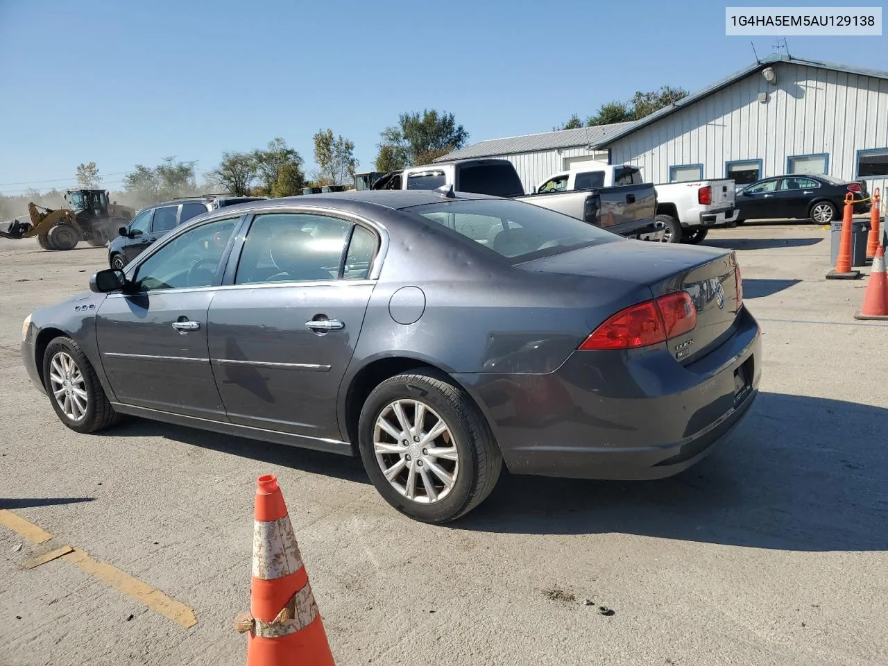
M575 352L547 375L462 375L509 471L575 479L649 480L694 465L741 423L761 376L758 324L741 311L734 335L702 359L666 345ZM748 382L737 392L735 378Z

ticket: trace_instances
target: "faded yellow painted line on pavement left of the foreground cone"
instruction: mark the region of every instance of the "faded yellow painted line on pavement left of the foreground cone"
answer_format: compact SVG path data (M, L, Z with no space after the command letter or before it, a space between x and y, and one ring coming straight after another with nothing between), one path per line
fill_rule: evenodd
M7 509L0 509L0 525L9 527L34 543L44 543L52 539L52 535L49 532L37 527L34 523L28 522L26 519L20 518L20 516ZM78 548L65 546L40 557L28 559L23 563L23 566L26 568L39 567L46 562L59 558L70 562L87 574L94 575L100 581L108 583L118 590L129 594L131 597L139 599L147 607L169 617L173 622L178 622L186 629L197 624L193 608L187 607L175 599L170 599L162 591L155 590L147 583L142 583L138 578L132 577L117 567L112 567L109 564L92 559Z

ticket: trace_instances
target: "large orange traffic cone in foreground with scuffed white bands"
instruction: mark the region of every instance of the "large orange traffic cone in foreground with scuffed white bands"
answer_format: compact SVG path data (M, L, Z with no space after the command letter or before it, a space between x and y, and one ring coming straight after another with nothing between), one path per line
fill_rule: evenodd
M274 474L258 479L254 518L250 613L234 621L247 666L335 666Z

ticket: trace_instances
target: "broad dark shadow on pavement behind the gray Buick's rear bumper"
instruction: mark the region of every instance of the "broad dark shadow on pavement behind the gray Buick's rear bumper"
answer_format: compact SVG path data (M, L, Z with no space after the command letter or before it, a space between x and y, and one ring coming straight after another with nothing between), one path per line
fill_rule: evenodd
M451 527L622 533L786 551L888 550L888 409L762 392L710 456L655 481L503 474Z

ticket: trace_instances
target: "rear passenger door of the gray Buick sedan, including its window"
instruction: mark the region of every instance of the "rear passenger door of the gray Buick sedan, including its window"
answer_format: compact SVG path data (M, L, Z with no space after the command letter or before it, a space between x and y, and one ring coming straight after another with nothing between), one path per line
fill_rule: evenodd
M374 287L378 244L375 231L345 218L252 219L210 304L210 359L233 423L341 439L339 384Z

